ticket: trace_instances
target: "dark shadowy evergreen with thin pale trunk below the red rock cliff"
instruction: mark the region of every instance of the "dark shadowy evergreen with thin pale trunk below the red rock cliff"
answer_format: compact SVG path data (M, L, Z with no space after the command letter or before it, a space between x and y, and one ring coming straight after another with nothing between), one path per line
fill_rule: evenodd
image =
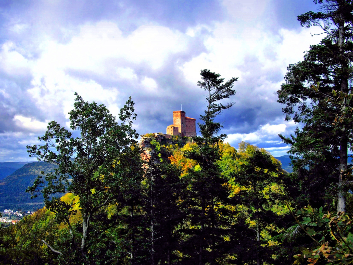
M150 163L145 175L143 210L146 213L146 236L150 264L172 264L173 251L180 243L177 227L185 219L184 204L179 200L186 189L180 179L181 170L171 164Z

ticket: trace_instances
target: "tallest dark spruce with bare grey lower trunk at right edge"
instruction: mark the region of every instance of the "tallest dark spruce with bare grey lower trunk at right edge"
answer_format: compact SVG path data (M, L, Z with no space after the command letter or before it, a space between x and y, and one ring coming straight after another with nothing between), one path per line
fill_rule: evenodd
M319 12L298 16L302 26L320 27L326 36L310 46L304 60L288 66L277 92L286 120L304 123L296 137L282 140L292 145L293 165L301 182L301 193L324 190L336 178L337 212L345 211L344 182L347 176L347 151L352 142L352 0L315 0ZM341 95L341 101L335 99ZM334 100L333 100L334 99ZM338 157L338 158L337 158ZM308 170L309 168L309 170ZM304 189L303 189L304 188ZM311 190L310 190L311 189ZM309 198L322 201L320 198ZM327 205L329 207L329 205Z

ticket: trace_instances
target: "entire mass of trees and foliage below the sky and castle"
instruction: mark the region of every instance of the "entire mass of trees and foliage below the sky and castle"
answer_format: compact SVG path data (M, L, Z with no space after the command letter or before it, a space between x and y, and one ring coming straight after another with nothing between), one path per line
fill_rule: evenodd
M293 172L224 141L218 118L238 78L201 70L201 135L140 145L131 97L117 119L76 93L70 130L52 121L27 146L53 166L27 188L45 206L1 228L0 264L352 264L353 1L314 2L319 12L298 20L323 39L277 91L286 120L302 125L279 135Z

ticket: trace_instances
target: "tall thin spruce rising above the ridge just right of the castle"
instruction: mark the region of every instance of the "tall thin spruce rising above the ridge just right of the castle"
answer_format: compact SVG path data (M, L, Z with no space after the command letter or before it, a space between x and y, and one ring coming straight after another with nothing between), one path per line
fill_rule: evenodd
M226 135L217 135L222 124L215 122L215 118L224 110L231 108L234 102L223 105L219 102L235 94L233 84L238 78L231 78L223 82L220 74L208 69L201 70L202 81L197 84L206 91L207 108L199 123L201 136L193 137L198 148L186 152L189 158L196 160L199 169L189 170L185 180L188 189L184 200L189 207L189 222L198 230L189 229L189 238L184 242L184 264L203 265L216 264L225 254L222 242L226 235L226 223L229 222L229 212L224 207L228 204L229 190L223 185L227 180L221 175L217 161L220 158L217 143ZM196 249L195 249L195 246ZM190 258L189 258L190 257Z

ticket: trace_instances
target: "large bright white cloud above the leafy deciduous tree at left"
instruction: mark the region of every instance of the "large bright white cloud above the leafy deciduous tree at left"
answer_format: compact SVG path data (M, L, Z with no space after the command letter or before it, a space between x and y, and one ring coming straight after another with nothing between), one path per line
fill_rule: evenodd
M124 36L115 23L101 21L82 25L67 43L44 37L39 58L25 58L22 48L8 41L1 47L0 69L8 75L31 74L28 92L50 119L62 114L68 118L74 92L85 100L104 103L117 115L127 98L118 97L117 87L100 81L127 80L130 89L124 93L130 95L134 90L155 92L158 86L153 78L145 76L139 83L136 66L159 69L170 55L187 51L189 40L180 31L157 25L143 25Z

